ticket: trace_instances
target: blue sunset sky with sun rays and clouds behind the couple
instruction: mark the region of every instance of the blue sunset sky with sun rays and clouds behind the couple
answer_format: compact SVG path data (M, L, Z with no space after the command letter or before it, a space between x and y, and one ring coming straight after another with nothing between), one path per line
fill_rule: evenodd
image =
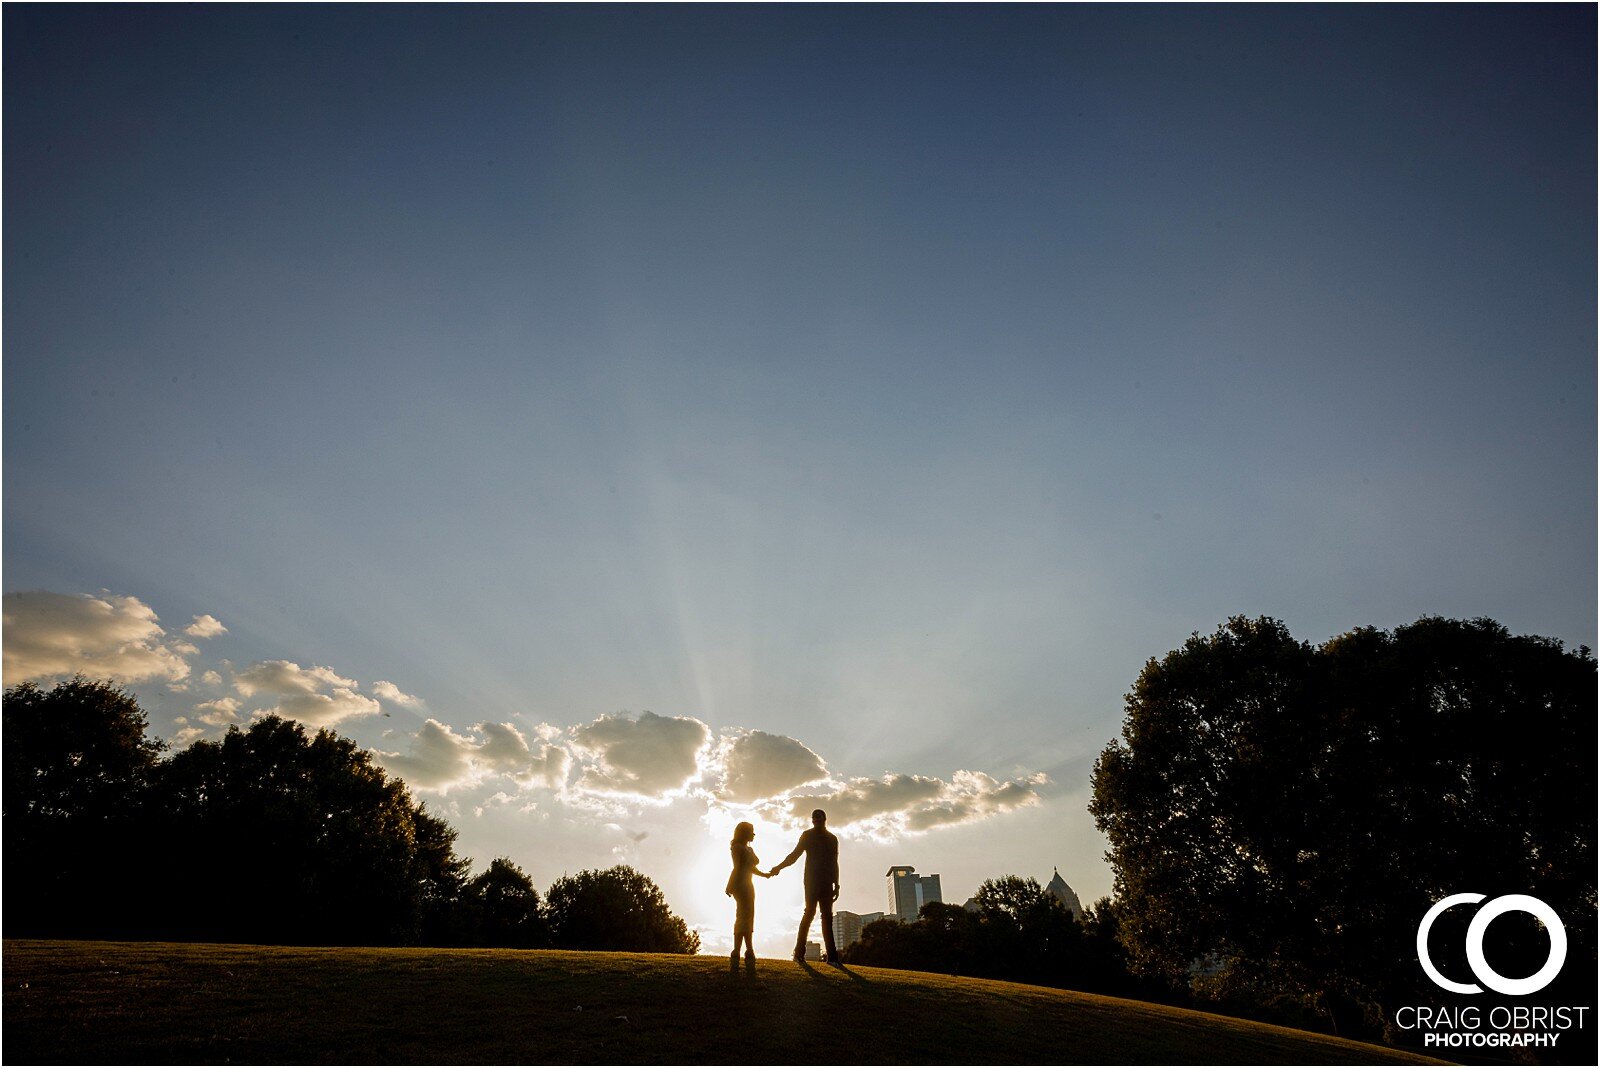
M333 727L475 870L726 951L821 804L840 908L1088 903L1190 633L1595 644L1589 5L3 29L6 686Z

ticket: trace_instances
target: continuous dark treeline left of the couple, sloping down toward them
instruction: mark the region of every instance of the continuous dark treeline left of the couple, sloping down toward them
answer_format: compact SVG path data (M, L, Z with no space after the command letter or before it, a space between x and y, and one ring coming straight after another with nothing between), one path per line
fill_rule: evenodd
M694 953L627 867L541 902L331 731L264 716L163 759L139 703L74 678L5 692L5 934Z

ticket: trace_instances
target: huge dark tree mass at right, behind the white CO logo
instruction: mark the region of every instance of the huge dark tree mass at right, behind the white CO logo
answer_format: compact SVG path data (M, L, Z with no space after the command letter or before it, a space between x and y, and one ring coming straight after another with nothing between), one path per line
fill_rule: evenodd
M1090 811L1134 967L1184 982L1221 961L1237 990L1349 1030L1440 993L1416 966L1416 924L1470 889L1544 899L1582 962L1566 974L1592 980L1587 649L1486 619L1314 649L1235 617L1152 659L1126 708ZM1542 959L1531 924L1499 938L1502 961Z

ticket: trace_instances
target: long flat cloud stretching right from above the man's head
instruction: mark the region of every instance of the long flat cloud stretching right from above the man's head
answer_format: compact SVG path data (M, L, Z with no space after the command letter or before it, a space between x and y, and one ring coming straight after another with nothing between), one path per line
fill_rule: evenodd
M824 809L832 827L894 839L1038 804L1038 787L1046 782L1043 774L1000 782L976 771L958 771L950 782L926 775L851 779L832 793L789 798L787 815L806 822L811 809Z

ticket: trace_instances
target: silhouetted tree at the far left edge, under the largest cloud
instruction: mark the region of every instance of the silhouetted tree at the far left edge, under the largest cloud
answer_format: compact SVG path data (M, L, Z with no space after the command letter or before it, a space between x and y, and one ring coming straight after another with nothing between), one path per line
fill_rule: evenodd
M126 934L142 921L150 771L139 703L82 676L3 702L6 934Z

